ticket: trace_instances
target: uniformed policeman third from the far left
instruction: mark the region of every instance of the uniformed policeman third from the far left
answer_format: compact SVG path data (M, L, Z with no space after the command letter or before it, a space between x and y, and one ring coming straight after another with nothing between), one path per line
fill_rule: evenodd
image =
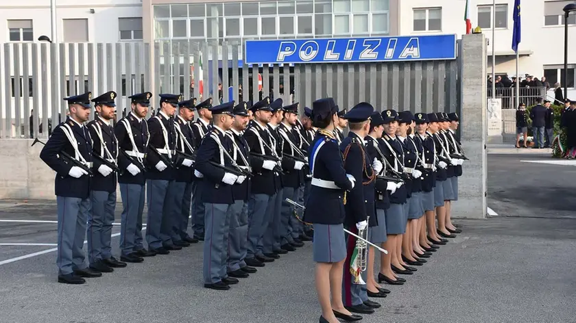
M142 238L142 214L145 202L145 161L149 132L145 120L152 93L128 96L132 110L117 122L114 132L118 140L118 166L123 172L118 177L122 197L120 224L120 260L130 263L144 261L141 257L154 257L146 250Z

